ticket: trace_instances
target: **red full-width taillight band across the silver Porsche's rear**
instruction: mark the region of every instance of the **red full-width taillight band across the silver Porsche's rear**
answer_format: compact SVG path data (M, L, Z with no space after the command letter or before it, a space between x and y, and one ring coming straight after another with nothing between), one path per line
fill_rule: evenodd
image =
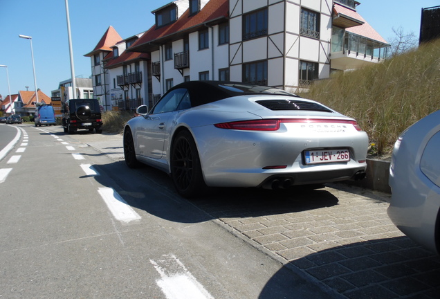
M283 118L283 119L268 119L268 120L244 120L231 123L215 124L215 127L220 129L238 129L250 131L277 131L280 123L335 123L335 124L349 124L353 125L356 130L360 129L356 120L332 120L332 119L309 119L309 118Z

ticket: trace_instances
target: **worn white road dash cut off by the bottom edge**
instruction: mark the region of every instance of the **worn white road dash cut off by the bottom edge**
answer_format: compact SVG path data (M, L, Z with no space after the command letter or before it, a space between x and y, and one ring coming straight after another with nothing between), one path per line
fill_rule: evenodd
M163 260L149 260L149 262L161 275L161 279L156 283L167 299L214 299L176 256L163 255L163 257Z

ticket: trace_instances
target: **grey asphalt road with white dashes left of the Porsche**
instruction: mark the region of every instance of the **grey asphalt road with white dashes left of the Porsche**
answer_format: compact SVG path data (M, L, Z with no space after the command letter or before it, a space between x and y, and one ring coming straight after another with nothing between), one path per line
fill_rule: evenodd
M111 136L16 127L0 125L2 140L20 133L0 161L1 298L340 297L178 197L164 174L128 169Z

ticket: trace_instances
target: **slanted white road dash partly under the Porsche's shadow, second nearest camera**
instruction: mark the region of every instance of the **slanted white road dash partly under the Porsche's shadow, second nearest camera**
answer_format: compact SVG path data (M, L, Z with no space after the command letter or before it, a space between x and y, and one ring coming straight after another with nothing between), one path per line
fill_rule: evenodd
M117 220L129 222L140 219L138 213L135 212L131 206L127 204L127 201L122 199L118 192L113 190L113 188L99 188L98 192L102 199L104 199L110 212Z

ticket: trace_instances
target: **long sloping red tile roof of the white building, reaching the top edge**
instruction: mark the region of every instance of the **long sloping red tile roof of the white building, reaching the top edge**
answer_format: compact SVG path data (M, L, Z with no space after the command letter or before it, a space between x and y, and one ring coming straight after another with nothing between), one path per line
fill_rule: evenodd
M199 27L204 24L221 19L228 19L228 17L228 0L210 0L196 15L190 15L190 10L188 9L173 24L161 28L156 28L156 25L152 26L152 28L149 28L149 30L131 46L129 51L149 52L152 47L152 45L149 44L150 42L158 42L159 39L163 39L163 41L167 38L172 39L172 35L176 33L193 32L199 30Z

